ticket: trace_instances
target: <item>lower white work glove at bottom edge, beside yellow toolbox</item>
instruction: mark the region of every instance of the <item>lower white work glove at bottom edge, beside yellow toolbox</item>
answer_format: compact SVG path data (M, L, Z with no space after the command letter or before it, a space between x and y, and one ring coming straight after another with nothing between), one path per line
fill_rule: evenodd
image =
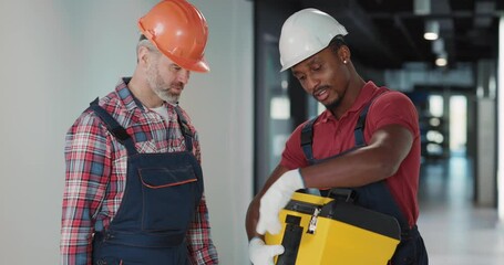
M254 265L275 265L274 257L284 253L282 245L266 245L259 237L248 243L248 255Z

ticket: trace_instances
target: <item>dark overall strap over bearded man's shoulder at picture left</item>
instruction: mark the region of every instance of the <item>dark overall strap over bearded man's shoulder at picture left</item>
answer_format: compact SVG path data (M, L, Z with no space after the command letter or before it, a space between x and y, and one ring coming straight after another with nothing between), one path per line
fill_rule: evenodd
M135 144L127 134L126 129L124 129L124 127L122 127L117 120L115 120L114 117L112 117L112 115L110 115L97 103L99 98L96 97L96 99L90 103L90 108L103 120L103 123L105 123L106 129L117 139L117 141L126 147L127 155L132 156L137 153Z

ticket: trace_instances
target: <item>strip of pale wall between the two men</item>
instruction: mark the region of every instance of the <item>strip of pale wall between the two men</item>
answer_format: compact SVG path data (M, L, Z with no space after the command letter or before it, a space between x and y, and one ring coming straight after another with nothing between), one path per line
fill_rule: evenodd
M207 19L209 74L182 99L199 128L206 197L220 264L249 264L245 213L253 197L253 4L194 0Z

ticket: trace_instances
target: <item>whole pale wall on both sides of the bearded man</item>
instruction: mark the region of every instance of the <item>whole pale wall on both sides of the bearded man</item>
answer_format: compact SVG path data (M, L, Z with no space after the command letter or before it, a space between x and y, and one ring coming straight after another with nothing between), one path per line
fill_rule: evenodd
M135 65L136 20L156 0L0 0L0 264L58 264L64 134ZM253 7L193 0L212 72L182 106L199 129L222 264L247 264L253 170Z

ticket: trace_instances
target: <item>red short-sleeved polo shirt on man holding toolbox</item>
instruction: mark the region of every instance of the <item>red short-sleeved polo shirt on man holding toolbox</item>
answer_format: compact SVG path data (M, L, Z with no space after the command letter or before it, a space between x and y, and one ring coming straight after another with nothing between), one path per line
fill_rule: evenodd
M388 91L388 88L377 87L374 83L368 82L361 89L352 107L340 119L336 119L328 110L320 114L313 124L313 158L323 159L333 157L354 147L353 129L359 114L367 103L382 91ZM288 169L308 166L300 145L301 128L305 124L298 126L286 142L280 165ZM413 225L416 223L419 215L416 200L420 173L419 117L416 108L410 98L394 91L389 91L380 95L369 107L364 126L366 142L370 141L376 130L391 124L404 126L413 135L413 145L410 152L402 161L395 174L385 180L392 195L395 198L402 212L407 215L410 225Z

